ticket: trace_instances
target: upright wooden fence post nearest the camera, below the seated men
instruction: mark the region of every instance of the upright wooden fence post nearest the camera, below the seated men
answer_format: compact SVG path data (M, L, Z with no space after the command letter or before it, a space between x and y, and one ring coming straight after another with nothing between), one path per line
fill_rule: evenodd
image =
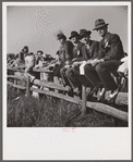
M86 113L86 86L82 85L82 114Z

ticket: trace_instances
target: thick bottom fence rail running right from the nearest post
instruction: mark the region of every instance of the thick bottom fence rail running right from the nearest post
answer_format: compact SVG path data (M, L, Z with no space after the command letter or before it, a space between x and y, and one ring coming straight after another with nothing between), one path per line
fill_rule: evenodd
M90 109L94 109L96 111L106 113L108 115L111 115L113 117L120 119L122 121L128 122L129 119L129 113L124 112L124 111L120 111L113 107L104 104L104 103L99 103L99 102L86 102L86 105Z

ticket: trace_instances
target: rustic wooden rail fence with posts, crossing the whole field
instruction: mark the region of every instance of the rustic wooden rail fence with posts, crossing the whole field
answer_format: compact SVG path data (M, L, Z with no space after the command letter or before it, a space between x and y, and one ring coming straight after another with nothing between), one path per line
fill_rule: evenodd
M12 72L24 72L23 68L14 68L14 67L8 67L8 71L12 71ZM41 72L41 73L49 73L49 71L41 68L41 70L34 70L35 72ZM50 72L51 73L51 72ZM100 103L100 102L92 102L92 101L86 101L86 87L83 86L83 90L82 90L82 100L78 98L73 98L73 97L69 97L66 95L63 94L59 94L57 90L62 90L64 92L68 91L66 87L63 87L62 85L52 83L52 82L47 82L47 80L39 80L39 79L34 79L33 85L35 86L39 86L39 87L46 87L46 88L50 88L53 90L46 90L46 89L39 89L39 88L34 88L32 87L31 80L29 80L29 76L15 76L15 75L8 75L8 85L19 88L19 89L23 89L26 90L27 96L31 95L31 91L35 91L38 94L44 94L44 95L48 95L51 97L57 97L76 104L82 104L82 114L86 113L86 107L88 107L89 109L94 109L98 112L102 112L105 114L114 116L117 119L120 119L122 121L129 122L129 113L125 111L121 111L118 110L111 105L105 104L105 103ZM10 79L14 79L14 83L10 82ZM16 80L21 80L21 82L25 82L25 86L22 85L17 85ZM128 105L128 92L119 92L117 99L116 99L116 103L117 104L125 104Z

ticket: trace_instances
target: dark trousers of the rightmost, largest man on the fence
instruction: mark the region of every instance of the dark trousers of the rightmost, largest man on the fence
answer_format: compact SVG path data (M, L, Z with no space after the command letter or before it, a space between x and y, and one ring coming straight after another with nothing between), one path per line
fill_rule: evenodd
M121 64L118 60L105 61L96 66L85 65L85 76L96 88L105 87L106 90L114 90L118 88L111 73L117 72Z

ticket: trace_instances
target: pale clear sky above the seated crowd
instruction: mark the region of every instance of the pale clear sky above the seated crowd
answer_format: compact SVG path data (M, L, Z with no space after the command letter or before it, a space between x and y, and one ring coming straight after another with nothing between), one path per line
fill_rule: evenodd
M93 30L95 21L104 18L110 33L118 34L128 52L126 5L8 5L7 53L19 53L24 46L31 52L43 50L55 57L60 47L59 30L69 38L72 30L92 30L92 39L100 40Z

